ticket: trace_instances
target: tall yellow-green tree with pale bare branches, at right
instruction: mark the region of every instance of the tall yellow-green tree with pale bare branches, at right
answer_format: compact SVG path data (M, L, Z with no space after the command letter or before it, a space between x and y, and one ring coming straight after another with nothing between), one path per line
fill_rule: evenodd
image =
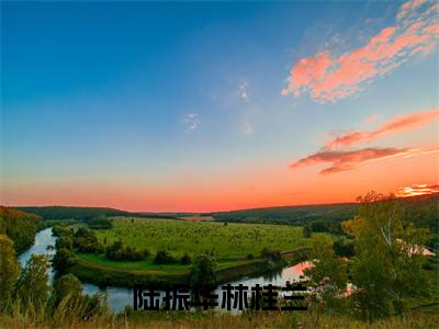
M403 299L427 294L421 253L427 230L405 224L393 195L359 198L359 215L344 229L354 237L351 276L362 316L372 320L404 310Z

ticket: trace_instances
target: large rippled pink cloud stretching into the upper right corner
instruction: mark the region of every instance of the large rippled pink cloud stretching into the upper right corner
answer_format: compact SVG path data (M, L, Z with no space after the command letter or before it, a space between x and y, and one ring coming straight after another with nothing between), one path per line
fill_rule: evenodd
M439 3L410 0L401 5L394 26L352 52L320 52L296 61L282 95L308 92L324 103L352 95L418 54L430 54L439 37Z

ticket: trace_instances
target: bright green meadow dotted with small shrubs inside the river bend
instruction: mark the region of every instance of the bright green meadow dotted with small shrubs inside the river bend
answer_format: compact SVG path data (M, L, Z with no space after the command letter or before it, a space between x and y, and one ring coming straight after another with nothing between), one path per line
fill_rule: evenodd
M250 253L258 257L263 248L284 251L309 247L313 241L313 238L303 238L302 228L294 226L122 217L114 218L112 229L95 232L102 242L106 238L106 245L122 239L124 245L146 248L153 254L160 249L175 257L185 252L192 257L210 253L219 262L235 261ZM150 266L150 261L144 265Z

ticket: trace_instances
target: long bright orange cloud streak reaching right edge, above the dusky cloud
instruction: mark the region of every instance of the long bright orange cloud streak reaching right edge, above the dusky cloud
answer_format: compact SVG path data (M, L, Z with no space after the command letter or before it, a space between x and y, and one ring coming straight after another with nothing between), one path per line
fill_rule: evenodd
M325 147L333 149L338 146L349 146L353 144L371 141L383 136L396 134L419 127L439 118L439 107L434 110L412 113L394 117L390 122L383 124L380 128L371 132L349 132L330 140Z

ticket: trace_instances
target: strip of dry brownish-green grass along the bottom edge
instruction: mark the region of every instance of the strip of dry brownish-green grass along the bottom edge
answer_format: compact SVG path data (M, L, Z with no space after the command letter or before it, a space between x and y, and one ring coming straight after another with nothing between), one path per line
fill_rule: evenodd
M256 315L138 313L130 316L102 315L90 321L75 318L44 320L32 316L0 316L0 328L437 328L439 315L413 313L367 324L345 316L297 313Z

